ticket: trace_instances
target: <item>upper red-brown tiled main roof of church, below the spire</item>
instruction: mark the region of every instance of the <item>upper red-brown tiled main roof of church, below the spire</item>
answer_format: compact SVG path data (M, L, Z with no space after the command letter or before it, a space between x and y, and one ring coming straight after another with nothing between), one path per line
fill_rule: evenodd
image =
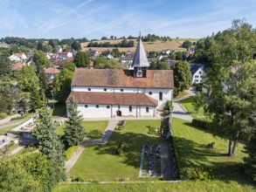
M147 70L147 78L134 78L133 70L77 68L71 86L173 89L173 71Z

